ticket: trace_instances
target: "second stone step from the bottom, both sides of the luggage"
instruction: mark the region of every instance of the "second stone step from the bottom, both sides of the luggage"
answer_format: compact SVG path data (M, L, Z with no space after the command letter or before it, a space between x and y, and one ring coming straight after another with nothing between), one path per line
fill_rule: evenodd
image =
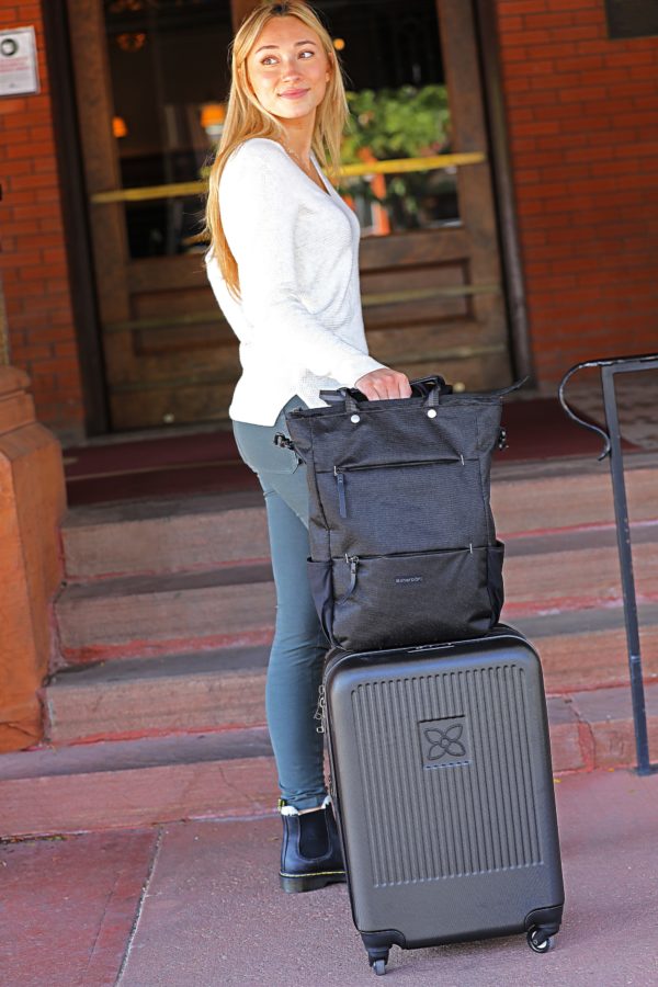
M658 679L658 604L640 609L646 681ZM536 646L549 694L625 685L617 609L515 621ZM269 648L125 658L58 672L44 690L54 744L262 725Z

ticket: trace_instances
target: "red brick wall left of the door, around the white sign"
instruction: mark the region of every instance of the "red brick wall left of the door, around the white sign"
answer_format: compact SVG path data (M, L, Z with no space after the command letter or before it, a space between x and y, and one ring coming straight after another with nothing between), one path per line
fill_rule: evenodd
M83 407L58 192L41 3L3 3L0 30L34 25L41 92L0 99L0 266L10 360L32 378L38 419L82 431Z

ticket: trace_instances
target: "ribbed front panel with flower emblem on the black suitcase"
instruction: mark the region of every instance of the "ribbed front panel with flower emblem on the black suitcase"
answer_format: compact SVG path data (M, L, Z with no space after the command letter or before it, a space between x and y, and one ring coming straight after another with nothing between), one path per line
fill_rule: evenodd
M542 863L523 668L371 681L352 710L375 887Z

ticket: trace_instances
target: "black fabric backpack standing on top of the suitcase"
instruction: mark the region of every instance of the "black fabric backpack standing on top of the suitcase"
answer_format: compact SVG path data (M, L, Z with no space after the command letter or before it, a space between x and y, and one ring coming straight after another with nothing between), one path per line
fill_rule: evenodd
M504 445L501 399L518 386L453 394L429 377L407 399L341 388L321 393L329 407L286 415L292 442L275 442L307 465L310 586L333 646L435 644L498 622L489 472Z

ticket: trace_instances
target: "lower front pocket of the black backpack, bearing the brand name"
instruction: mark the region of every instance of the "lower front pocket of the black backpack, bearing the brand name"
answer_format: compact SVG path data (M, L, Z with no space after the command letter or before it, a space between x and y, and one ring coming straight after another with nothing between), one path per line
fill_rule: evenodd
M498 542L332 559L333 643L361 650L486 634L498 622L502 606L502 557Z

